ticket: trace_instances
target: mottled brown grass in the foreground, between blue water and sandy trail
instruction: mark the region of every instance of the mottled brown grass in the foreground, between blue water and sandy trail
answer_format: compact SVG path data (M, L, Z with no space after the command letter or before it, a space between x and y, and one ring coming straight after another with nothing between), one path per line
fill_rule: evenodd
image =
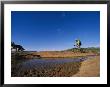
M41 65L39 68L22 69L22 65L19 67L13 67L11 70L12 77L70 77L73 74L79 72L81 62L71 62L64 64L50 65L45 67Z

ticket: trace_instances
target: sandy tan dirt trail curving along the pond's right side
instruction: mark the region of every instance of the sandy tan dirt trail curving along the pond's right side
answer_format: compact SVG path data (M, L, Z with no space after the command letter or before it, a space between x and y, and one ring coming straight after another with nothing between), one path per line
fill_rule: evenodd
M80 71L73 77L99 77L100 76L100 57L82 62Z

